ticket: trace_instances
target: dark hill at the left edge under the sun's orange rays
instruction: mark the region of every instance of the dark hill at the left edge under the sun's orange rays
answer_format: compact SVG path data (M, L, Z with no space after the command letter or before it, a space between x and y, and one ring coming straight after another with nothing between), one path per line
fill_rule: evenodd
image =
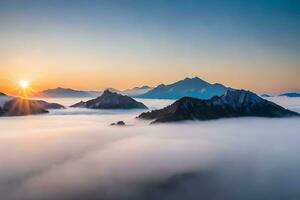
M61 109L64 106L41 100L13 98L0 107L0 116L23 116L48 113L46 109Z

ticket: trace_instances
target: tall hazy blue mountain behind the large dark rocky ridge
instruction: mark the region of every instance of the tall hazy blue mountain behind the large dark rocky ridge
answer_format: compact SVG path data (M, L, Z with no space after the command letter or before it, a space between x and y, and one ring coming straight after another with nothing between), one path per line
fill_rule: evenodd
M182 97L195 97L209 99L224 94L231 88L222 84L210 84L198 77L186 78L170 85L161 84L149 92L139 95L140 98L151 99L180 99Z

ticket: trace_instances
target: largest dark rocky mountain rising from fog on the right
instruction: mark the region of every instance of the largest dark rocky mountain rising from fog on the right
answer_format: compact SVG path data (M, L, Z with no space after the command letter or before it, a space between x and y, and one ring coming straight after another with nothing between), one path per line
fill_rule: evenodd
M273 102L245 90L229 90L209 100L183 97L160 110L144 112L138 118L156 122L210 120L230 117L291 117L300 116Z

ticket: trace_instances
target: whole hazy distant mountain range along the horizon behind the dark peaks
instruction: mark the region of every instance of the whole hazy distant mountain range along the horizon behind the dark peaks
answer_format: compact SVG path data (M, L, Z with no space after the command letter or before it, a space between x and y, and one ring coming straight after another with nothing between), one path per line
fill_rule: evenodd
M157 87L134 87L126 90L107 88L111 92L119 93L136 98L149 99L180 99L182 97L194 97L199 99L210 99L213 96L220 96L233 90L220 83L208 83L199 77L185 78L172 84L160 84ZM102 91L82 91L70 88L47 89L33 94L34 97L98 97ZM1 94L0 94L1 95ZM262 94L262 97L272 97L268 94ZM300 93L283 93L279 96L300 97Z

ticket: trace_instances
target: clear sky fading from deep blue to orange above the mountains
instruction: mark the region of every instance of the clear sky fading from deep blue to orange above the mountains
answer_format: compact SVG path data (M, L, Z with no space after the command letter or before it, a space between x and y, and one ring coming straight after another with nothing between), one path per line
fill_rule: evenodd
M199 76L300 91L300 1L0 0L0 91L156 86Z

